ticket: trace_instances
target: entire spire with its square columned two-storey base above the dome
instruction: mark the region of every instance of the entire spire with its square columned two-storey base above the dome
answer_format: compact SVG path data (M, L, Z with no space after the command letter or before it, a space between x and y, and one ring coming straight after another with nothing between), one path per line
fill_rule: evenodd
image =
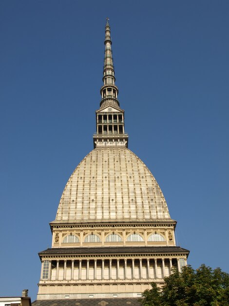
M124 110L119 108L118 87L115 85L115 70L111 50L111 29L107 18L105 26L105 56L100 109L96 110L94 148L128 147L128 134L124 131Z

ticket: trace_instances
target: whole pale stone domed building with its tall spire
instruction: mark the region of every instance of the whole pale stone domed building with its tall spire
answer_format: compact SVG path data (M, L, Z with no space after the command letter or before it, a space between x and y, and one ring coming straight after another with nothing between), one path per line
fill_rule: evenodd
M160 187L128 149L108 20L104 43L94 150L69 178L50 223L52 248L39 253L34 305L140 305L152 282L162 285L172 267L187 264Z

